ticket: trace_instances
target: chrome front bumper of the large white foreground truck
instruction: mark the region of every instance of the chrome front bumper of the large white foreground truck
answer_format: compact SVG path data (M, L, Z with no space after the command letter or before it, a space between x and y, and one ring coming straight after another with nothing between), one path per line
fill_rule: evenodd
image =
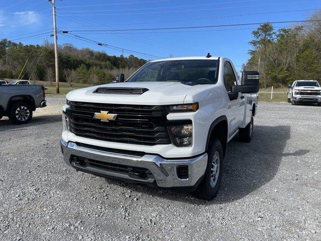
M154 181L159 187L192 187L203 177L208 155L202 154L193 158L182 158L168 160L156 155L146 154L144 156L130 156L95 150L77 146L76 143L61 140L61 149L65 162L77 170L91 173L98 176L115 177L117 179L129 182L145 183L151 185ZM128 174L118 173L95 168L91 166L78 166L77 163L71 162L71 155L88 158L91 160L126 165L131 167L140 167L148 169L154 176L153 178L140 179ZM177 166L188 166L188 179L180 179L177 175Z

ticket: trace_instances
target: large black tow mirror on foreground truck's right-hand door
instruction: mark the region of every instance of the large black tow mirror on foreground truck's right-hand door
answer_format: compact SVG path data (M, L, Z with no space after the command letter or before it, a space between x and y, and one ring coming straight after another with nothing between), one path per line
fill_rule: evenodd
M242 85L234 85L231 92L257 93L259 92L260 74L257 71L243 71Z

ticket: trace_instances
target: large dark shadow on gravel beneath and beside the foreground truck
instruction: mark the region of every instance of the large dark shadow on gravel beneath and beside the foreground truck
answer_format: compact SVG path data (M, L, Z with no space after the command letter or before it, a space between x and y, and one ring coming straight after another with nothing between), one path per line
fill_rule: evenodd
M193 204L213 205L233 202L270 182L277 173L282 157L302 156L309 152L309 150L297 150L293 153L283 153L287 140L290 139L289 126L254 126L254 128L251 143L238 141L229 143L220 191L213 201L199 200L189 193L173 193L164 189L152 189L111 180L107 182L125 186L132 191Z

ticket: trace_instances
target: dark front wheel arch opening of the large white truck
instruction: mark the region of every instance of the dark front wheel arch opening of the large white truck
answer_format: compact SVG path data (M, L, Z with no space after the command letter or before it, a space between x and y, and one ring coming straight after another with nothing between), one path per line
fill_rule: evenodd
M215 138L221 141L223 147L223 154L225 156L227 139L228 139L228 122L227 117L225 115L221 115L216 118L215 121L211 124L206 141L206 150L208 150L211 141Z

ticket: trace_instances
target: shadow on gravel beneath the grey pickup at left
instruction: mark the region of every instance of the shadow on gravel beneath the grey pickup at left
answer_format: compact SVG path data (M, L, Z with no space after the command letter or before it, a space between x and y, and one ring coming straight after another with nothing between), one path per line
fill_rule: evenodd
M8 130L26 130L30 126L38 126L61 121L61 114L34 116L32 117L31 122L26 125L13 125L9 119L0 119L0 132Z

